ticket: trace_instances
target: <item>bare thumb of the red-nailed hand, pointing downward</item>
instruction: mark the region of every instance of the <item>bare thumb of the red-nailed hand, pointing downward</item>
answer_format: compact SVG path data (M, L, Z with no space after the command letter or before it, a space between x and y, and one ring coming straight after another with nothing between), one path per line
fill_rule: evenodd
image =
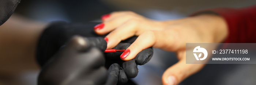
M182 56L186 56L185 52L182 53ZM186 64L186 58L185 57L180 57L180 58L182 59L179 62L169 67L163 73L163 76L162 76L163 85L177 85L181 81L183 81L185 78L198 72L205 65L205 64Z

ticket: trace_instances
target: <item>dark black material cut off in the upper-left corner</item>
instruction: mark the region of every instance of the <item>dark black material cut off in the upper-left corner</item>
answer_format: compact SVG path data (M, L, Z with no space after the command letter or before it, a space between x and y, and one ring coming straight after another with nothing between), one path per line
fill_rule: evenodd
M20 0L0 0L0 26L10 18L19 3Z

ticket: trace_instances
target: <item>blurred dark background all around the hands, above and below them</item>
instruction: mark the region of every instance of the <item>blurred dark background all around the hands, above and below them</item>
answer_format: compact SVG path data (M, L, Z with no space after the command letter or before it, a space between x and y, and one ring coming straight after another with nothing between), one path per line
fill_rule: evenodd
M202 9L255 4L256 0L22 0L15 13L43 22L101 22L102 15L113 11L134 11L150 19L169 20ZM138 85L161 85L163 72L176 62L174 53L154 49L153 58L139 66L139 74L132 80ZM180 85L256 85L255 67L254 64L209 64ZM36 85L38 72L31 70L10 78L1 76L0 85Z

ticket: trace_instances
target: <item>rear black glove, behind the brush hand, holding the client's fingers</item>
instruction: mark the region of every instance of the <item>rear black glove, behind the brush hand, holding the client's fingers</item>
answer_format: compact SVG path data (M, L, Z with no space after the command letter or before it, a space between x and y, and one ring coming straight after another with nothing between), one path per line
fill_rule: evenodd
M41 34L41 38L38 42L37 61L39 65L43 66L44 63L48 61L48 59L50 59L50 57L52 57L52 55L55 54L61 46L64 45L64 42L66 42L69 38L71 38L74 35L81 35L86 37L99 36L95 34L93 31L93 27L97 24L99 23L52 23ZM101 37L104 37L104 35ZM117 47L115 47L114 49L126 49L130 45L128 43L133 43L136 38L137 37L132 37L127 40L124 40L122 42L125 42L126 45L120 43L120 45L117 45ZM141 53L137 55L135 59L127 61L125 62L125 64L120 63L123 62L120 59L121 53L123 52L109 53L107 57L110 62L107 62L106 65L108 65L107 67L109 67L109 65L112 65L114 63L113 61L118 62L118 64L121 66L119 68L120 70L118 70L121 74L119 75L120 78L118 82L119 84L124 84L128 80L127 77L133 78L137 76L137 65L144 65L146 62L148 62L153 55L153 50L152 48L143 50ZM136 61L136 63L134 61ZM128 62L130 62L131 64ZM125 70L123 70L123 67L125 67ZM127 77L125 77L124 74Z

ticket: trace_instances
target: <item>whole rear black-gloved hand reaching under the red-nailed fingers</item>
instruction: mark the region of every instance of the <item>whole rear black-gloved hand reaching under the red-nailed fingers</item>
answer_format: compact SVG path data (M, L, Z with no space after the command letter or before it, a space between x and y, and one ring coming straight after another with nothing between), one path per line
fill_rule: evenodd
M66 47L64 45L65 42L75 35L86 37L84 39L89 41L87 42L88 46L95 46L103 52L106 49L107 43L103 39L104 36L99 36L93 32L93 26L96 24L98 23L53 22L42 32L38 41L37 61L39 62L39 65L44 66L46 62L50 61L53 55L60 49ZM131 37L119 43L114 49L127 49L136 38L136 36ZM112 78L116 79L116 83L120 85L127 83L129 78L137 76L137 65L144 65L147 63L153 56L153 49L145 49L145 51L140 52L138 56L136 56L136 59L130 61L121 60L119 57L122 53L123 52L104 53L106 59L105 67L108 69L114 68L108 70L112 74L118 72L115 76L117 78ZM114 82L114 80L112 82ZM116 85L114 83L111 84Z

